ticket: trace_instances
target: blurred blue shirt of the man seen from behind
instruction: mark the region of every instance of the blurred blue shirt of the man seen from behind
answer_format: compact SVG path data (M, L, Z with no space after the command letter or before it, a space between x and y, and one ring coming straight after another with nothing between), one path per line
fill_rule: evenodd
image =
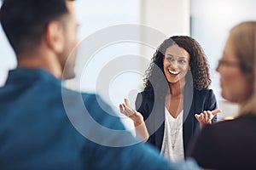
M62 88L48 71L9 71L0 88L0 169L197 169L138 143L110 112L98 95Z

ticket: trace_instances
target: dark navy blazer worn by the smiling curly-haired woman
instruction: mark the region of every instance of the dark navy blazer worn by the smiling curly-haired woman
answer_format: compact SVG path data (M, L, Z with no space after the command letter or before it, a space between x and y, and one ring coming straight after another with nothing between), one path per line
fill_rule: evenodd
M200 131L200 123L195 119L195 114L215 110L217 103L212 89L199 91L186 85L183 105L183 148L186 156L190 139ZM149 133L148 142L161 150L165 130L164 99L150 98L143 91L137 95L136 110L143 115ZM217 116L214 116L212 122L216 121Z

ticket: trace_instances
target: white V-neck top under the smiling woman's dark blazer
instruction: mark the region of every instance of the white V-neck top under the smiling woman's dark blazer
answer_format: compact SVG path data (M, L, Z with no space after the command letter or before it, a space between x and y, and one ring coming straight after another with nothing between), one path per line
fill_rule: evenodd
M174 118L165 109L165 133L161 154L172 161L183 161L183 111Z

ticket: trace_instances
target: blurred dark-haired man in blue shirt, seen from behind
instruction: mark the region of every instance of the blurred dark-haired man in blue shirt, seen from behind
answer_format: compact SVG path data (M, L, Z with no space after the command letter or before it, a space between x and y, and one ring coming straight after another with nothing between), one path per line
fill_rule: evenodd
M98 124L125 132L119 118L102 109L112 111L99 96L61 88L61 78L75 76L75 58L68 59L78 43L74 12L73 1L67 0L3 1L0 20L18 67L0 88L1 169L196 169L193 162L166 161L131 133L125 138L104 134L80 119L83 106ZM65 106L72 120L82 127L84 122L84 132L103 145L73 127ZM130 146L114 147L126 140Z

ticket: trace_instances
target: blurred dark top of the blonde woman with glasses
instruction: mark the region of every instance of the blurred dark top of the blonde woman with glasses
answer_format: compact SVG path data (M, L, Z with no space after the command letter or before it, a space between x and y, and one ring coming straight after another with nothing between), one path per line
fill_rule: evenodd
M256 169L256 116L207 125L192 143L188 155L201 167Z

